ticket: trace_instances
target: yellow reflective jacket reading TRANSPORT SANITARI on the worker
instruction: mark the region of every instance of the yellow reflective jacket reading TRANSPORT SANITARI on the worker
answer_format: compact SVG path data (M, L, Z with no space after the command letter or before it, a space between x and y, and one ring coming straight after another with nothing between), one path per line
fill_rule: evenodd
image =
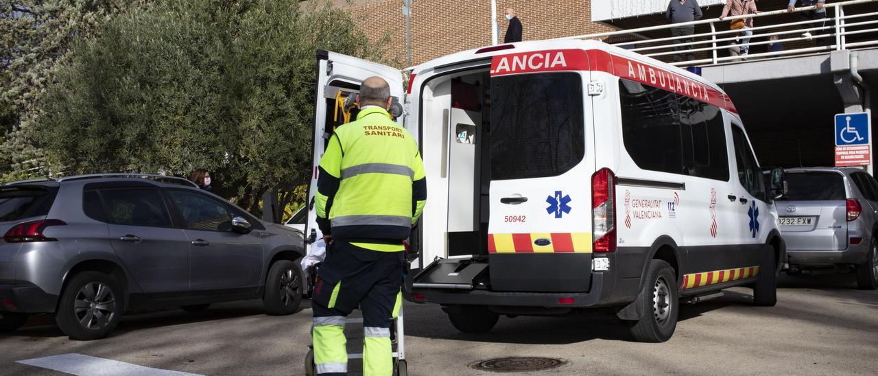
M356 121L335 129L317 179L317 223L324 235L400 250L426 202L418 144L383 108L365 108Z

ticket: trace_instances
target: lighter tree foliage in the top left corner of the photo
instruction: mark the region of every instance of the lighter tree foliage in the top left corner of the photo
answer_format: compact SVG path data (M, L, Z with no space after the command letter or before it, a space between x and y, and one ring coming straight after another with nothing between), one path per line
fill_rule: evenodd
M72 42L92 36L118 4L128 3L0 0L0 181L45 164L28 137L43 113L43 94L69 60Z

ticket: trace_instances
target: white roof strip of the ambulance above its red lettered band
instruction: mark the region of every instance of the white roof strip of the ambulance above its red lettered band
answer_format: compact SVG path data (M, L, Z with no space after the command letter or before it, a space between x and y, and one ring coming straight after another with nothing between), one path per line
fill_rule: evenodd
M631 52L620 47L615 47L597 40L533 40L526 42L510 43L508 45L473 48L471 50L458 52L456 54L445 55L443 57L424 62L421 65L415 67L412 73L414 75L440 73L441 71L446 70L446 68L454 69L457 68L457 66L462 65L466 62L480 61L496 55L520 54L534 51L554 51L564 49L581 49L584 51L597 50L613 56L623 57L631 61L638 61L646 66L664 69L668 72L673 72L676 75L684 76L689 80L701 83L709 87L710 89L716 90L722 93L723 96L725 96L725 91L723 91L723 89L721 89L716 84L710 83L709 81L705 80L702 76L695 75L694 73L691 73L686 69L677 68L666 62L658 61L651 57L637 54L635 52ZM482 52L479 53L479 51Z

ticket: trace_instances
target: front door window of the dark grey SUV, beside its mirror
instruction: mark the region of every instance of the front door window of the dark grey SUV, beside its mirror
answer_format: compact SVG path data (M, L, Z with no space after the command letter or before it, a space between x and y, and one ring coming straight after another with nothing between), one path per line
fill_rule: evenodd
M184 227L204 231L232 231L233 213L218 199L198 192L171 190L168 192L177 211L183 216Z

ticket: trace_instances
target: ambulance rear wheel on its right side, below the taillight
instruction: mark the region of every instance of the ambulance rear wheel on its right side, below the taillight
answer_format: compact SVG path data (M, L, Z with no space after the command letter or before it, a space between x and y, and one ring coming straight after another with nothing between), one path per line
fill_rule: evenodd
M671 265L662 260L652 260L646 271L643 291L637 299L643 300L643 317L630 322L631 336L637 342L666 342L677 329L680 312L680 292L677 277Z

